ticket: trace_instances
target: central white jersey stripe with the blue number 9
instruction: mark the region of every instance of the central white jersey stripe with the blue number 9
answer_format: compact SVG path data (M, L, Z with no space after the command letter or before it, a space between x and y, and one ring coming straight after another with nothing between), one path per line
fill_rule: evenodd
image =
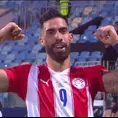
M70 78L67 75L70 69L62 73L56 73L51 69L49 70L54 87L56 117L74 117L72 88Z

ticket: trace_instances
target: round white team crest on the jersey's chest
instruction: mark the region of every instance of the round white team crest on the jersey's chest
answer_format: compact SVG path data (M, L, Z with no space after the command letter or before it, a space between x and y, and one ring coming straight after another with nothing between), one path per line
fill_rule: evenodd
M82 78L74 78L72 84L77 89L83 89L85 87L85 81Z

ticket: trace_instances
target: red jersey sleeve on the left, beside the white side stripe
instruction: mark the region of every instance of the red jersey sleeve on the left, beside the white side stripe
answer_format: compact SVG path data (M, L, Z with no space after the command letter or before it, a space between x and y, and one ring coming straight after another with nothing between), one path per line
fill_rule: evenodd
M9 81L7 92L17 93L23 100L25 99L30 67L31 64L26 64L4 69Z

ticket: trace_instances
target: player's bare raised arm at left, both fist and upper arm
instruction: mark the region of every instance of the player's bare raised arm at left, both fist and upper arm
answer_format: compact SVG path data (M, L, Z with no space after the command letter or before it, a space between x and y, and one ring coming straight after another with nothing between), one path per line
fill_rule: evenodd
M15 23L9 23L0 30L0 43L5 40L19 40L24 38L21 29ZM3 69L0 69L0 92L6 92L9 87L9 78Z

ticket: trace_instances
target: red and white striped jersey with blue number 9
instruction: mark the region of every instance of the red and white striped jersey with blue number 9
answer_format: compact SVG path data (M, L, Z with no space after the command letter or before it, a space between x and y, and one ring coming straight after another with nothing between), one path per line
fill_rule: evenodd
M55 72L47 65L5 69L8 92L17 93L32 117L93 116L93 100L104 91L101 65Z

